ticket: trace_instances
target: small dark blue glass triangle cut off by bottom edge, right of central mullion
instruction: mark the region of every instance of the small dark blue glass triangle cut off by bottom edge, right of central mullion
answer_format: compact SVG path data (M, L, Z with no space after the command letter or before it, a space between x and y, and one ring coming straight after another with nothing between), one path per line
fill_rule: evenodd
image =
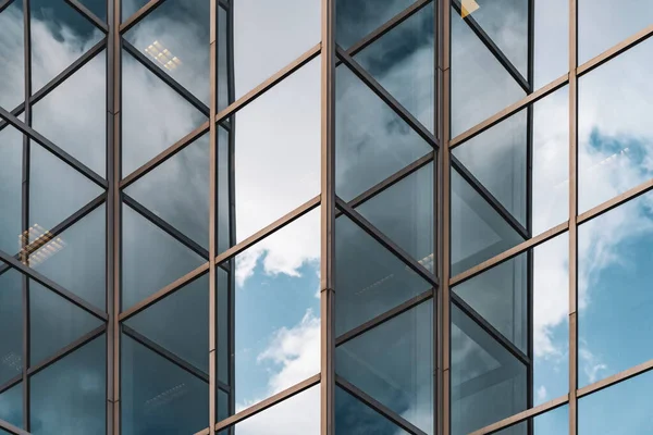
M408 432L337 386L335 387L335 433L337 435L408 435Z

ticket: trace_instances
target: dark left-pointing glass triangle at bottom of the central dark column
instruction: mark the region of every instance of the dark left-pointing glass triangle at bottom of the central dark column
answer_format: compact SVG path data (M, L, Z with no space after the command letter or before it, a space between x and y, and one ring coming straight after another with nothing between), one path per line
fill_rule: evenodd
M335 371L367 395L433 433L433 303L391 319L335 349Z

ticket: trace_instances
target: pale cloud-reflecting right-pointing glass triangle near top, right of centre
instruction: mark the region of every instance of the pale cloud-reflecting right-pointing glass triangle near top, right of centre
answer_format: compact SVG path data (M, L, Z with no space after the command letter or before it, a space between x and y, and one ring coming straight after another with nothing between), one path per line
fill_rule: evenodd
M452 9L452 132L455 137L526 91Z

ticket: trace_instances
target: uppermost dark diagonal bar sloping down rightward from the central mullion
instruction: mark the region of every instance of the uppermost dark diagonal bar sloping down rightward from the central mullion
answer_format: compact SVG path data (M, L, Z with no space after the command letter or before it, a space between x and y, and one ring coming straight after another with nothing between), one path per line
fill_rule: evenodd
M370 73L368 73L358 62L354 60L345 50L336 46L337 57L343 63L365 83L385 104L387 104L406 124L408 124L415 133L421 136L431 147L438 149L440 142L427 127L420 123L406 108L404 108L383 86L377 82ZM341 66L342 67L342 66Z

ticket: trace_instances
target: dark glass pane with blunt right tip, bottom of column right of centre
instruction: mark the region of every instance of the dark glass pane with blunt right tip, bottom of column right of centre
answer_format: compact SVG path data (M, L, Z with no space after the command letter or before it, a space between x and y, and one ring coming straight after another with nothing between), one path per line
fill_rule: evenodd
M456 306L451 346L452 434L468 434L528 407L527 366Z

